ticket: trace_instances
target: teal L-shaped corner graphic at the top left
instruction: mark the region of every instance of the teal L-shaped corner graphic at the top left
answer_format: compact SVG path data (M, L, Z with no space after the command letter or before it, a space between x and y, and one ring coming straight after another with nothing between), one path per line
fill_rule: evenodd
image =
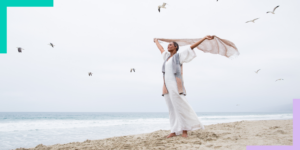
M0 0L0 54L7 53L7 7L53 7L54 0Z

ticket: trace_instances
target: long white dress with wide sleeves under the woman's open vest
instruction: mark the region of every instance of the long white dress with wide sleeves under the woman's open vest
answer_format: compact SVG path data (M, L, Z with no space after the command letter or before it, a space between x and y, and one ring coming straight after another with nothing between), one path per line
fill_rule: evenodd
M181 64L190 62L196 57L196 53L190 47L178 53ZM166 60L170 53L165 51L162 56ZM178 93L177 83L172 71L172 57L165 64L165 84L168 94L164 95L169 108L171 133L180 135L183 130L204 129L197 114L188 104L186 97Z

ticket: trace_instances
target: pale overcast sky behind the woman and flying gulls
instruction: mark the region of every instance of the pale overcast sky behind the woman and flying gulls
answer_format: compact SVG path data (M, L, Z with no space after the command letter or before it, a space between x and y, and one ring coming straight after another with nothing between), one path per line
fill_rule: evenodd
M163 2L170 5L158 13ZM234 42L240 56L230 60L195 49L197 57L184 64L184 81L196 112L290 109L300 98L299 4L55 0L49 8L9 7L0 111L167 112L163 60L153 38L205 35ZM277 5L275 15L266 14Z

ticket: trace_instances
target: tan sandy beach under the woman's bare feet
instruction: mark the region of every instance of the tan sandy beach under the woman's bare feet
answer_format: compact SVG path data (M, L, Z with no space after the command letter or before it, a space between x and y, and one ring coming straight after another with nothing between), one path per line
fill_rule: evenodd
M293 120L239 121L205 126L205 130L188 132L187 138L166 138L169 130L147 134L86 140L68 144L16 150L246 150L249 145L293 145Z

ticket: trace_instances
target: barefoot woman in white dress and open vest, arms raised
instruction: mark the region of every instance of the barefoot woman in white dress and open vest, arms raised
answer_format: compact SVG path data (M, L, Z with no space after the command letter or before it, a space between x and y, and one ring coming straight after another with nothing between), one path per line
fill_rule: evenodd
M170 42L168 51L165 51L158 40L154 39L165 61L162 69L164 74L163 96L169 108L171 127L171 134L167 138L180 134L182 134L182 137L187 137L187 131L204 129L197 114L185 98L186 91L183 85L182 64L190 62L196 57L193 50L195 47L204 40L212 40L213 38L213 36L206 36L180 52L178 52L179 46L176 42Z

